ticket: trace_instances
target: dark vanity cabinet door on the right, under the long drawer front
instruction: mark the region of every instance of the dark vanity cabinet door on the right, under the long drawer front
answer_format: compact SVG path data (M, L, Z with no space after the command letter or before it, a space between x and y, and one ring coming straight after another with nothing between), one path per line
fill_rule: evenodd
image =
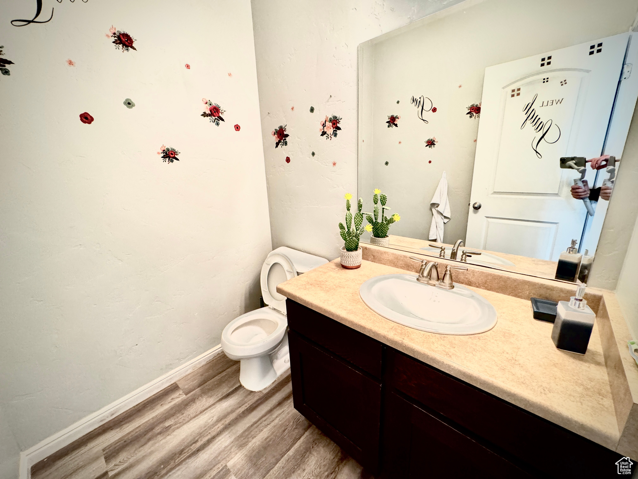
M385 395L384 478L533 477L475 438L459 432L438 414L399 394Z

